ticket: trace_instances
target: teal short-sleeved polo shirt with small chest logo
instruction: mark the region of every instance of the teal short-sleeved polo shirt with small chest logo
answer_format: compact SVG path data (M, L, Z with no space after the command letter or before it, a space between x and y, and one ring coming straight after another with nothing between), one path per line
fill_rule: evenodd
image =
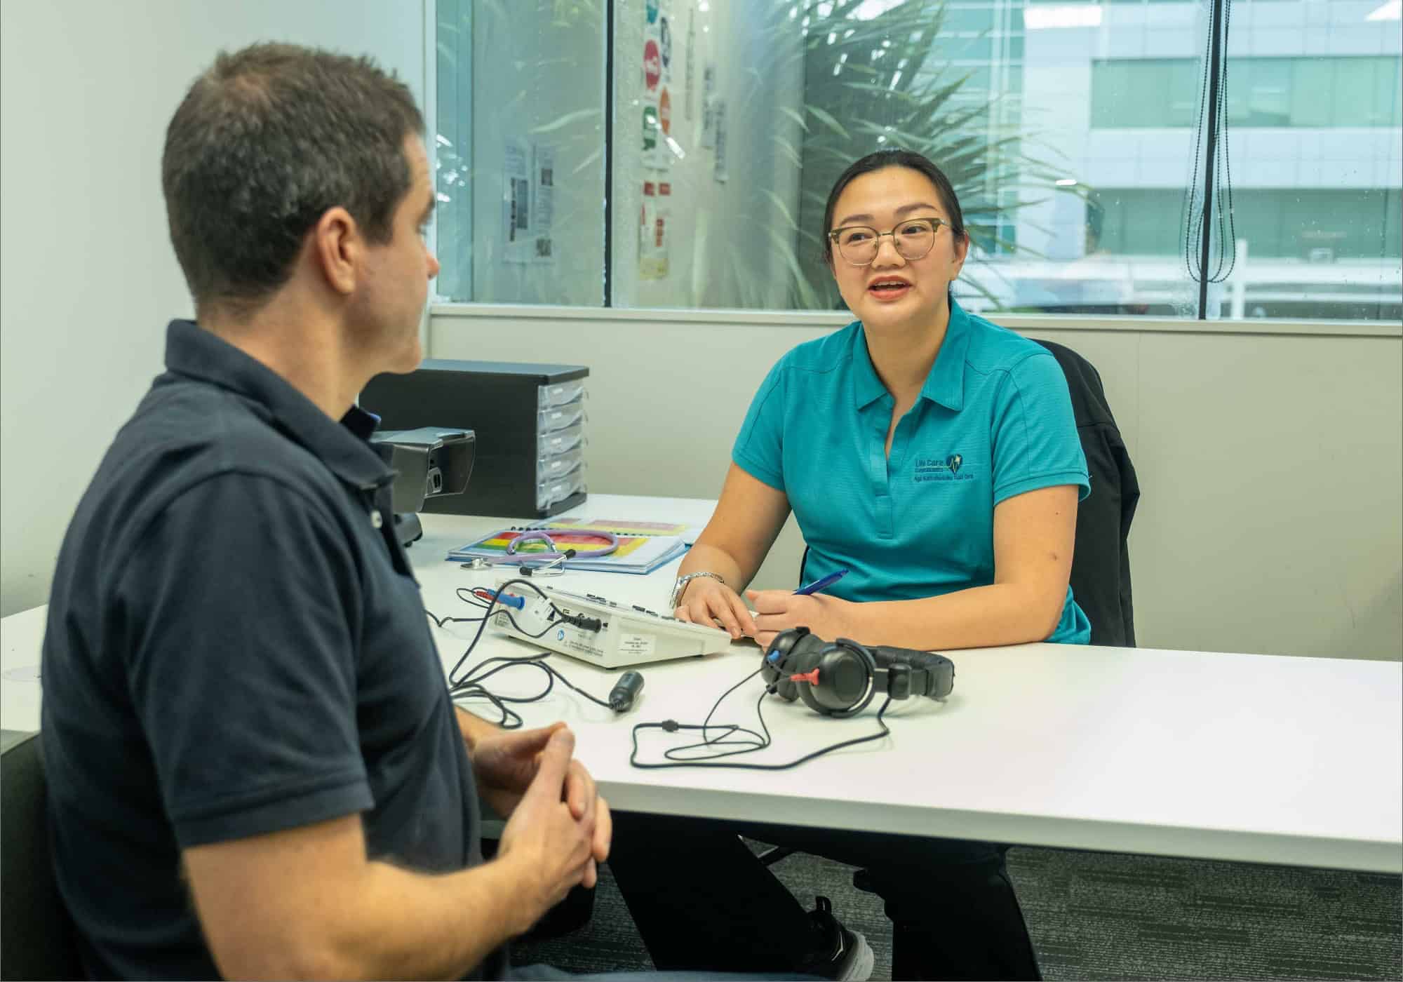
M1056 359L958 304L888 457L892 407L853 321L770 369L731 452L788 497L810 547L805 581L849 570L826 591L833 596L909 600L988 586L995 505L1059 484L1090 492ZM1068 588L1047 640L1090 637Z

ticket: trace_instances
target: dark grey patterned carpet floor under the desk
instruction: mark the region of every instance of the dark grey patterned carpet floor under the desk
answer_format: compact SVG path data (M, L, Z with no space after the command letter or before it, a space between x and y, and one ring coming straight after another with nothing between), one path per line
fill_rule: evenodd
M829 896L867 936L873 978L891 978L891 927L850 867L794 854L774 873L805 906ZM1031 847L1009 852L1009 873L1048 979L1403 978L1399 877ZM652 968L607 867L588 924L512 954L577 972Z

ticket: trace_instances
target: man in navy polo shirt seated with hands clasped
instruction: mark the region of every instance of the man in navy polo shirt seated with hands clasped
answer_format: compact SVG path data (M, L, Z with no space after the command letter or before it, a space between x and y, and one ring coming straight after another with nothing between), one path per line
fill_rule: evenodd
M255 45L167 130L196 321L79 505L43 643L55 863L94 976L501 976L607 853L568 731L449 699L354 407L421 356L422 128L365 59ZM509 815L485 864L478 786Z

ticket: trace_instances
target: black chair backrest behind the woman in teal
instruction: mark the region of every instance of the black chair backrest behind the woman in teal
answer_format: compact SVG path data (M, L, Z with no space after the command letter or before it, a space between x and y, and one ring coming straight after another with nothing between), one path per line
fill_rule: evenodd
M1092 644L1134 648L1135 606L1127 539L1139 502L1135 467L1106 401L1100 373L1066 345L1037 344L1052 352L1066 376L1076 432L1092 476L1092 494L1076 509L1072 596L1092 621Z

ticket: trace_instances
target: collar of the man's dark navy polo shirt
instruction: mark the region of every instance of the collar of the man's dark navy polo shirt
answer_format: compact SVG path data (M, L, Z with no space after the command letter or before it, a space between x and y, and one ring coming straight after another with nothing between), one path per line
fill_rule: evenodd
M394 480L394 471L369 443L377 422L373 415L352 405L340 424L333 422L286 379L194 321L173 320L166 328L166 368L255 403L283 435L358 490Z

